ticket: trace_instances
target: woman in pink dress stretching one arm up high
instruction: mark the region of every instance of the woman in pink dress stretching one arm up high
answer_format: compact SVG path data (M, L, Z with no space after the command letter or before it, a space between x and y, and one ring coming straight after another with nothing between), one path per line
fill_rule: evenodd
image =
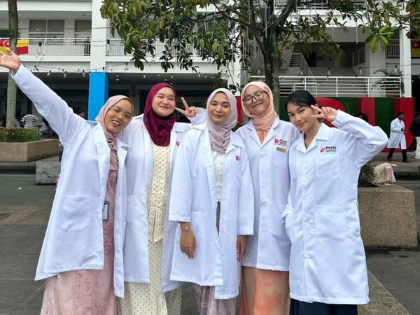
M15 82L65 146L36 269L36 280L47 279L41 314L115 315L116 295L124 295L127 154L117 136L132 119L132 101L111 97L97 122L88 122L13 52L0 52L0 65L14 71Z

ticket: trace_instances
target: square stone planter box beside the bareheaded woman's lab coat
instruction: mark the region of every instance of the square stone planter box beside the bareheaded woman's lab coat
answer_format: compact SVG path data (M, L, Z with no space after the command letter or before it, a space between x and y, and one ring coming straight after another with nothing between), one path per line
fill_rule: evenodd
M417 246L414 192L398 185L358 190L360 227L367 248Z

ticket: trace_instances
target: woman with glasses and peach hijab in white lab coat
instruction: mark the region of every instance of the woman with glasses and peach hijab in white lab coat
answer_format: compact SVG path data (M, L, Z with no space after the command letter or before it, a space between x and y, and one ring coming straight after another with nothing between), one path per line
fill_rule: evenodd
M299 132L279 119L265 83L248 83L241 99L251 120L237 134L248 154L255 209L254 235L242 260L241 314L286 315L290 241L281 214L290 187L288 151Z

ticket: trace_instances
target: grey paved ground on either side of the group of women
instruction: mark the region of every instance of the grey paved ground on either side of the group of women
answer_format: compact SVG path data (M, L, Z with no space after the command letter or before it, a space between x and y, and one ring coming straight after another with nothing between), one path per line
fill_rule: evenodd
M398 181L414 190L419 218L420 162L395 164L414 179L419 173ZM43 281L33 279L54 193L36 186L33 174L0 174L0 315L39 314ZM372 251L367 263L372 301L360 314L420 315L420 251Z

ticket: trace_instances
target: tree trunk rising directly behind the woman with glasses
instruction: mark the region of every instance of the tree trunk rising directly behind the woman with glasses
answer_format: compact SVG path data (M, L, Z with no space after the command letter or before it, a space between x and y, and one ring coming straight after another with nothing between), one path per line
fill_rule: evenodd
M265 83L273 92L274 109L280 113L280 69L282 66L281 52L277 47L277 34L272 32L270 37L264 38Z

